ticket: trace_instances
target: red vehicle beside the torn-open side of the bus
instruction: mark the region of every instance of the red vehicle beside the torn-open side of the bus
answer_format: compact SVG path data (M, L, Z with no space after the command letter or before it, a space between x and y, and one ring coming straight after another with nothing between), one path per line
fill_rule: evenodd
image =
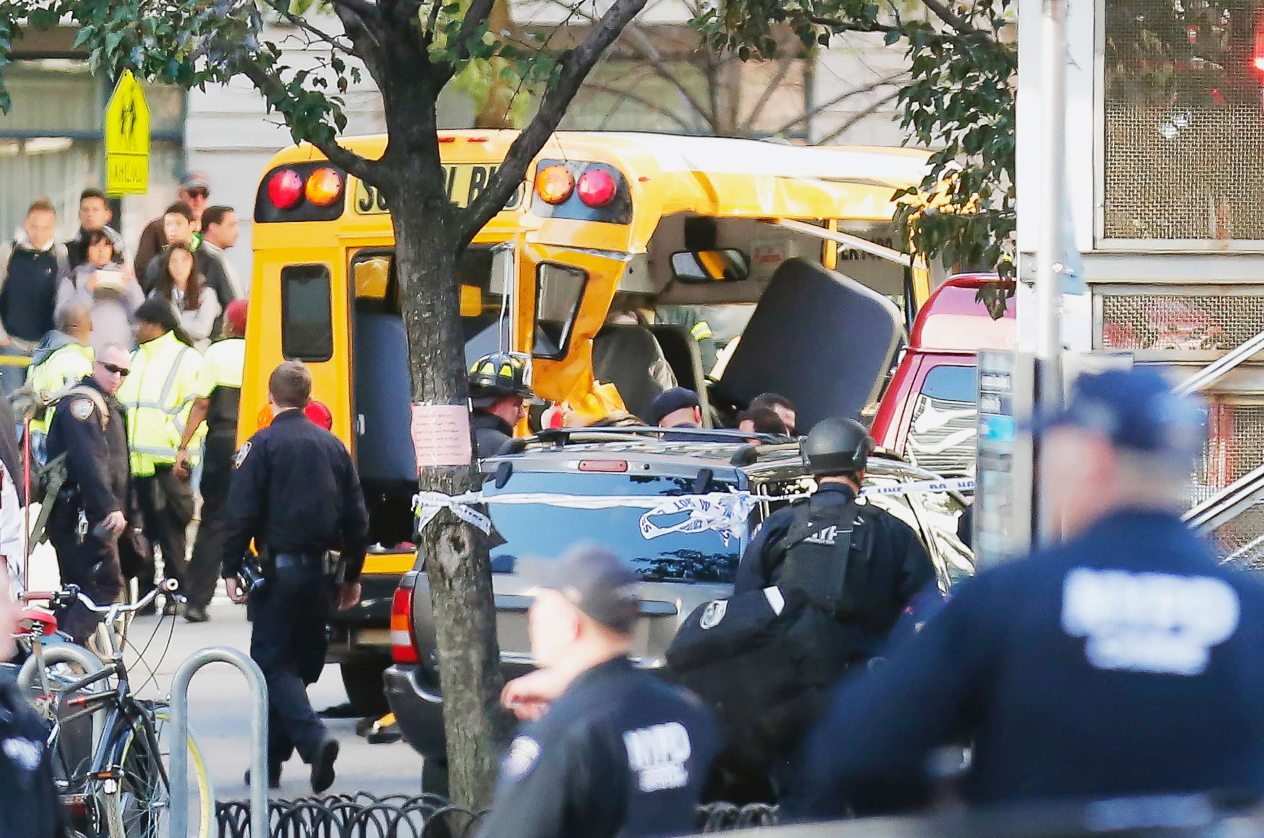
M870 432L882 447L935 474L975 470L976 355L1014 349L1014 306L992 320L975 297L995 273L949 278L918 311L909 348Z

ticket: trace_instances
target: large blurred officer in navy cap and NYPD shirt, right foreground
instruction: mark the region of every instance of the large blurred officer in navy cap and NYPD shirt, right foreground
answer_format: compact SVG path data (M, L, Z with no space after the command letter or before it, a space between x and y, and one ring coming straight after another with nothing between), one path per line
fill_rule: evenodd
M1158 373L1079 378L1035 426L1066 541L963 583L844 685L799 813L920 803L928 756L962 738L980 805L1264 791L1264 586L1181 521L1200 425Z

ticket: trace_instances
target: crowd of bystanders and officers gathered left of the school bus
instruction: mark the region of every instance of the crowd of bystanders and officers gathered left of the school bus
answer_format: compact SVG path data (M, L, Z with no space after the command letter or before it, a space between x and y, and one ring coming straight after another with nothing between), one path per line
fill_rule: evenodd
M34 477L21 501L51 507L63 581L106 602L126 579L140 595L176 579L186 618L201 622L219 578L245 360L249 288L226 255L238 216L191 174L134 254L112 221L106 196L85 188L77 229L58 241L56 209L40 198L0 252L0 389L19 445L29 420ZM95 626L86 612L67 617L81 641Z

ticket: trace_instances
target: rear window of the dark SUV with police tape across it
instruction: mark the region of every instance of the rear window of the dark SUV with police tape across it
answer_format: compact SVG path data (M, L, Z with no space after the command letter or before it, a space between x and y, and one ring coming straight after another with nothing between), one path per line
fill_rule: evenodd
M712 482L710 492L727 492L729 485ZM502 489L484 487L487 497L497 494L547 493L564 495L660 495L670 498L694 494L686 478L627 474L565 474L514 471ZM651 512L645 506L604 509L575 509L545 503L488 503L495 526L492 571L513 573L518 559L557 559L574 545L590 542L609 550L645 581L728 583L737 574L737 562L746 545L744 532L726 533L712 528L696 532L680 530L690 513ZM694 513L694 517L699 517ZM651 526L642 528L642 519ZM642 535L642 532L648 535ZM499 538L495 537L499 535Z

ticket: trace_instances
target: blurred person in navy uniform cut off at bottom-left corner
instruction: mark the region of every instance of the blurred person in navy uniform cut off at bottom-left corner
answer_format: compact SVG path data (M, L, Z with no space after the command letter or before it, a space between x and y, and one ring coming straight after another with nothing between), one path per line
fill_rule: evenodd
M0 661L13 656L18 608L0 584ZM70 838L53 782L48 728L13 684L0 680L0 838Z

